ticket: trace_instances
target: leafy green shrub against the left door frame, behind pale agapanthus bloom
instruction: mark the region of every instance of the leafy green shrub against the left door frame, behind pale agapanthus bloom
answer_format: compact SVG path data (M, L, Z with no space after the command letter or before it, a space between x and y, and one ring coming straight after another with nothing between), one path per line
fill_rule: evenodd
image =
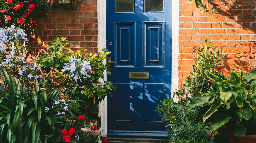
M80 100L78 101L79 104L72 104L73 111L77 112L75 113L76 115L82 114L87 109L88 113L94 112L96 111L95 105L98 105L106 95L110 95L110 90L115 90L111 82L104 80L103 74L108 66L103 64L103 60L106 59L110 51L102 49L103 52L93 55L92 53L85 54L86 49L82 48L75 53L71 49L65 48L67 44L69 44L67 38L57 38L49 45L51 55L43 55L35 61L38 65L41 65L42 70L48 73L44 78L48 89L62 87L64 89L64 98L69 97L73 100ZM82 78L82 81L76 82L71 78L69 71L61 73L65 64L70 61L70 57L89 61L92 68L92 72L88 72L90 77ZM78 69L76 72L80 71L81 69ZM107 73L110 74L109 71Z

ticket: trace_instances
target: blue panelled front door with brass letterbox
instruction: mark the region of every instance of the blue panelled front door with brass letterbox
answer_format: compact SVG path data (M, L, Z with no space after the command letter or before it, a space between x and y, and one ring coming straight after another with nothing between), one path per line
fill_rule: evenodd
M171 95L172 0L106 0L107 135L164 136L156 107Z

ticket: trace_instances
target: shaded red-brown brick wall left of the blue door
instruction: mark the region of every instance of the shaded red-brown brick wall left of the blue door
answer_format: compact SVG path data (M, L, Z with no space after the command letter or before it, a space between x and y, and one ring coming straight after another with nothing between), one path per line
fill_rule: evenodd
M39 49L47 53L46 47L62 36L69 39L73 51L77 47L86 48L88 53L98 51L97 0L82 0L75 8L59 5L48 10L46 17L37 19L36 25L38 34L34 31L29 42L36 55Z

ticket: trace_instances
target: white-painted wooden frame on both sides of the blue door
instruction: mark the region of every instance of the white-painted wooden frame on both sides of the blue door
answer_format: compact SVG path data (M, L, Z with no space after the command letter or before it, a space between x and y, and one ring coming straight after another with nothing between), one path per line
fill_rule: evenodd
M178 89L178 36L179 36L179 0L172 0L172 95ZM106 0L98 0L98 51L107 47ZM106 64L106 60L104 61ZM106 80L106 73L104 74ZM101 136L107 136L107 98L99 107L101 117Z

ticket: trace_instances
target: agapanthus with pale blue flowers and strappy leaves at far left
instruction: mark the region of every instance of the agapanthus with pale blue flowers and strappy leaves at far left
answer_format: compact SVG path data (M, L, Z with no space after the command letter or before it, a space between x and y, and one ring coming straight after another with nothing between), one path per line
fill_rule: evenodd
M0 29L0 142L43 142L42 132L60 131L52 123L63 126L67 123L61 118L74 117L68 108L69 102L76 102L59 99L61 88L47 94L42 80L38 82L41 67L24 62L24 40L26 34L20 28ZM6 65L13 68L9 75Z

